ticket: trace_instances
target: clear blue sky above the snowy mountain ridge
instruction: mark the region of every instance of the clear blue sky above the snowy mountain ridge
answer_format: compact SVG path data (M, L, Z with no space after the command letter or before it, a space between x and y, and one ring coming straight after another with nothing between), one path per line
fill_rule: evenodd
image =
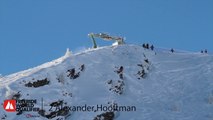
M90 32L212 52L213 0L1 0L0 74L56 59L66 48L90 47Z

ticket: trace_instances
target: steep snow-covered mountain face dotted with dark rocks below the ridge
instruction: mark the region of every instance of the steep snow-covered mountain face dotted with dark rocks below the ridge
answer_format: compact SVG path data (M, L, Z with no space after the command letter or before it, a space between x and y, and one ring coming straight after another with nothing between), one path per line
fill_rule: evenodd
M106 118L110 116L114 120L211 120L212 73L213 56L207 54L151 51L137 45L91 49L0 78L1 104L16 96L19 100L36 99L35 107L43 104L45 110L43 116L38 112L16 115L2 106L0 117L48 119L50 104L63 100L64 106L96 109L117 104L132 109L113 114L100 109L73 110L51 119L99 120L97 115L102 114L106 120L111 120Z

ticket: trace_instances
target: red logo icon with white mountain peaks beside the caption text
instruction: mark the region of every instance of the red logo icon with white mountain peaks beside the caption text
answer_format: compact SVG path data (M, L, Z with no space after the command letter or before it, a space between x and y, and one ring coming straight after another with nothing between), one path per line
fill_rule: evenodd
M5 100L3 107L4 107L4 110L7 112L15 112L16 100Z

